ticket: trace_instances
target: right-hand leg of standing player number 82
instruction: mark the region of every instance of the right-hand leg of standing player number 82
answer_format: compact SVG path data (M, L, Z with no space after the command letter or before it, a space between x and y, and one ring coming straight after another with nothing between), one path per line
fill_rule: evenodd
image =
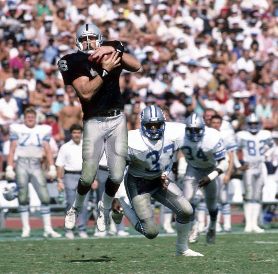
M252 184L252 230L257 233L263 233L264 229L258 226L258 218L261 209L262 189L264 186L264 172L257 173Z

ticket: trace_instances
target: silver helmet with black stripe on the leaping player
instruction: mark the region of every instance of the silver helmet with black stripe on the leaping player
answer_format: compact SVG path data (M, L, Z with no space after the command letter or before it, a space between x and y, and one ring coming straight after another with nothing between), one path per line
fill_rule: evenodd
M84 37L86 40L83 40ZM94 37L96 41L89 42L88 37ZM82 41L80 41L81 39ZM96 43L96 47L100 47L102 45L100 29L93 24L84 24L76 32L75 44L80 52L90 55L92 52L94 52L94 50L89 49L89 44L91 43ZM85 44L87 44L87 50L85 50Z

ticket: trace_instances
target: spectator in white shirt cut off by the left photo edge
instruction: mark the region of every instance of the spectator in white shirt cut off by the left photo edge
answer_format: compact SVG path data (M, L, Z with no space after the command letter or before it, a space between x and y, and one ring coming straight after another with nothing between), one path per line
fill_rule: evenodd
M17 120L17 101L11 98L9 90L4 91L4 97L0 99L0 125L14 123Z

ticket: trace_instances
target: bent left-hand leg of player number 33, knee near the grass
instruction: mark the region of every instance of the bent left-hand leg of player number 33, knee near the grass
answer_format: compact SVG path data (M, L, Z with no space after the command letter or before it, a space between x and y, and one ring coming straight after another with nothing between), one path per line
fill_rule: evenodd
M155 238L159 233L159 225L156 222L151 208L151 194L146 192L138 193L138 180L128 172L125 174L125 190L132 208L119 198L124 215L131 225L148 239Z

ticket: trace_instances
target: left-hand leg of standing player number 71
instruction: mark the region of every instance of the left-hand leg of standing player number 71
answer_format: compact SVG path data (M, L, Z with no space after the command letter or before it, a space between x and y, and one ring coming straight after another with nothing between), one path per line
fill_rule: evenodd
M18 201L19 201L19 214L22 222L22 234L21 237L30 237L30 225L29 225L29 205L28 205L28 182L29 174L27 172L28 165L24 163L24 160L19 158L15 167L15 174L18 187Z

